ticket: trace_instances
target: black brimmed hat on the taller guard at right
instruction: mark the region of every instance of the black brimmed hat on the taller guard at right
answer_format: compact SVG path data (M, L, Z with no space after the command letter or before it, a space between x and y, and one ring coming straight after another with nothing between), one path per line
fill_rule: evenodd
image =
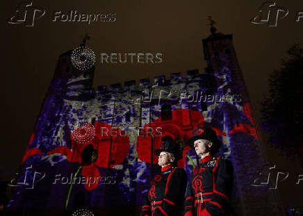
M188 145L192 148L194 148L194 142L196 140L208 140L213 142L215 148L219 148L221 145L221 142L217 138L217 134L213 130L213 128L208 127L199 127L193 130L193 137L188 139Z

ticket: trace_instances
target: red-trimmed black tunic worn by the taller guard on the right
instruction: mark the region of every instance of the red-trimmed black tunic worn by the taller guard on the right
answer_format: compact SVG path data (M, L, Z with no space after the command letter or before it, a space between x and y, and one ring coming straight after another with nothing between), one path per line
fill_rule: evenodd
M229 215L233 169L227 159L205 156L190 176L184 216Z

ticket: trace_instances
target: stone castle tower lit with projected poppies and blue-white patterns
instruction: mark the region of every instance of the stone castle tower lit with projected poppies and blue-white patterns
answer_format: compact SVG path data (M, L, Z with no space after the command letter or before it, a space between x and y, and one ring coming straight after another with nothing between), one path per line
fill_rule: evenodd
M274 190L252 185L267 161L232 35L212 27L203 50L204 74L192 70L186 77L176 73L97 90L92 89L95 68L81 72L72 66L71 52L63 53L17 178L24 184L15 188L10 208L44 215L65 208L136 215L150 178L159 172L154 149L161 138L184 145L193 128L211 126L222 141L219 154L234 165L235 215L284 215ZM179 166L188 175L189 158L199 163L195 151L185 147ZM94 181L72 184L76 176Z

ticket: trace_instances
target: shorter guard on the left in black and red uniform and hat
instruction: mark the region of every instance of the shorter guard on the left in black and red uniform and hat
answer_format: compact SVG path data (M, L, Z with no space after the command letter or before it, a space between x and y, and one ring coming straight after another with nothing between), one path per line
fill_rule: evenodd
M186 172L176 166L181 159L179 144L166 137L161 149L156 150L161 174L154 176L147 192L141 216L179 216L182 215L183 199L186 192Z

